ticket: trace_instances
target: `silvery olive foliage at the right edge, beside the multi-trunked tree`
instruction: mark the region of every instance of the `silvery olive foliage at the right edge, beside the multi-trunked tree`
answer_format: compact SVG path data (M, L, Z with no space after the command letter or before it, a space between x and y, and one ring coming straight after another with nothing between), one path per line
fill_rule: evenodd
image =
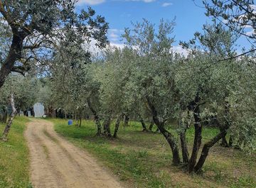
M255 65L251 58L254 54L242 57L238 61L238 89L229 97L230 112L233 114L233 123L230 128L232 135L230 145L252 153L255 150L256 121L255 121ZM245 97L246 96L246 97Z

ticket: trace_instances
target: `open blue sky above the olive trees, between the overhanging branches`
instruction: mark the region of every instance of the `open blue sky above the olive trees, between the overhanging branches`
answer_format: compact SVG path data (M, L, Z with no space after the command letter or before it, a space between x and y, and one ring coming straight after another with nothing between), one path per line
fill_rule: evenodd
M196 6L196 4L198 6ZM121 45L120 35L124 28L132 27L132 22L146 18L156 25L161 18L172 20L176 17L176 48L180 40L188 41L193 33L201 31L204 23L210 23L206 17L201 0L79 0L77 9L91 6L97 14L105 16L110 23L108 37L110 43ZM242 44L243 42L241 42ZM180 49L181 50L181 49Z

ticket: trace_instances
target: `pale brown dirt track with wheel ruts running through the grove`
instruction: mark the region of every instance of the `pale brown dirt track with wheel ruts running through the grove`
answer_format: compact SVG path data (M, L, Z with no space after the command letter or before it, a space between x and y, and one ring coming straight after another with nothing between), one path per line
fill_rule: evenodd
M34 187L119 188L119 182L88 153L53 130L53 123L32 119L25 132Z

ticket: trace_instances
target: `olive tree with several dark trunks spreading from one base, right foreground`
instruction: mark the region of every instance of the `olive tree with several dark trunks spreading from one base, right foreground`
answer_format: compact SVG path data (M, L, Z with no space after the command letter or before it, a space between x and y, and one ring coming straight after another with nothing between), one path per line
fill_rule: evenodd
M230 58L236 55L234 46L238 36L217 23L204 26L203 31L203 34L195 33L190 43L182 43L191 49L191 55L179 66L176 77L183 103L180 110L184 111L181 129L186 131L193 124L195 130L191 157L188 158L187 148L182 150L188 172L200 172L210 148L220 139L225 141L228 131L234 128L237 114L233 113L230 97L238 90L238 78L243 74L238 61ZM220 128L220 133L203 145L198 158L203 127L207 123Z

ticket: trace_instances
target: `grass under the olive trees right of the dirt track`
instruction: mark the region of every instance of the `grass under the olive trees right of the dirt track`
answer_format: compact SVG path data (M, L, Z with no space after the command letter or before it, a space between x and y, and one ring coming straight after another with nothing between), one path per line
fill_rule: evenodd
M203 175L188 175L171 165L171 152L159 133L144 133L132 122L120 127L117 139L95 136L95 123L83 121L82 127L68 126L67 121L51 119L55 131L78 147L92 153L127 187L256 187L256 155L215 146L203 167ZM218 130L203 130L203 142ZM193 143L193 128L188 130L188 148Z

